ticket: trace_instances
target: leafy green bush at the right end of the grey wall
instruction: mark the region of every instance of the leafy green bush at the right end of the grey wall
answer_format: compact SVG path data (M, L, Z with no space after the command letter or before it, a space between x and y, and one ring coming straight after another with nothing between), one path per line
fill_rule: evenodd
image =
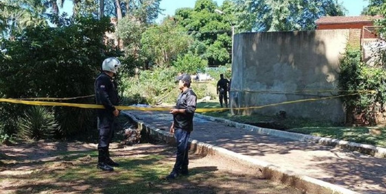
M347 115L361 115L362 122L376 124L379 112L384 112L386 100L386 70L383 67L369 67L361 61L362 52L359 49L347 48L340 59L339 87L341 94L353 94L358 90L375 90L359 95L344 97ZM348 118L349 122L352 120Z

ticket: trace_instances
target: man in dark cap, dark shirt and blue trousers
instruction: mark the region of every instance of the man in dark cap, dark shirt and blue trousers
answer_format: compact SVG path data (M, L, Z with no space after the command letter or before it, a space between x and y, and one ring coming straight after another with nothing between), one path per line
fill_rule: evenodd
M197 96L190 88L191 77L182 74L177 78L178 88L181 93L178 96L177 104L170 110L173 114L173 124L170 132L174 134L177 143L177 157L173 171L166 179L175 179L179 174L188 175L188 145L190 132L193 131L193 116L196 110Z

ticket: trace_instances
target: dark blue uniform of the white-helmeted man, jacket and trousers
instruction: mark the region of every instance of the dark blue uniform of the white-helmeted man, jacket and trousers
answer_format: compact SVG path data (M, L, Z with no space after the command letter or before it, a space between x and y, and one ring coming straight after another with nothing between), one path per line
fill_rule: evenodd
M101 104L105 109L98 109L98 130L99 142L98 162L105 162L110 158L108 147L114 135L114 118L113 111L119 104L118 92L112 77L102 73L95 80L95 97L97 104Z

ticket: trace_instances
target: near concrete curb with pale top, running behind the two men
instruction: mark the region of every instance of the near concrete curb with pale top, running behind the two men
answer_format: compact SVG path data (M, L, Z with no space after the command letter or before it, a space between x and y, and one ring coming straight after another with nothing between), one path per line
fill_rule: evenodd
M151 127L150 125L141 122L139 119L135 118L134 115L124 112L133 122L135 122L139 129L146 135L149 135L149 138L156 140L163 140L169 145L174 145L175 140L173 135L164 130L156 129ZM358 192L351 191L349 189L345 189L343 187L320 181L318 179L303 176L296 174L292 171L287 171L281 169L278 166L274 166L273 164L269 164L264 161L259 161L252 157L248 157L242 154L238 154L236 152L229 151L222 147L213 146L211 144L206 144L203 142L199 142L197 140L189 139L190 149L191 151L195 151L201 156L210 155L218 155L221 157L226 157L235 162L239 162L243 165L248 165L259 169L262 175L266 179L270 179L272 181L281 182L283 184L295 187L300 191L308 194L360 194Z

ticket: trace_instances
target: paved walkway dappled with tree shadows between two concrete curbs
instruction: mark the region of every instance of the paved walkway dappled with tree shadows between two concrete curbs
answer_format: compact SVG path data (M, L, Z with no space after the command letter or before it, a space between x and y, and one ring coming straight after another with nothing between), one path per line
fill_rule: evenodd
M173 119L167 112L129 112L146 124L167 131ZM191 138L363 194L386 193L386 159L261 135L197 117Z

